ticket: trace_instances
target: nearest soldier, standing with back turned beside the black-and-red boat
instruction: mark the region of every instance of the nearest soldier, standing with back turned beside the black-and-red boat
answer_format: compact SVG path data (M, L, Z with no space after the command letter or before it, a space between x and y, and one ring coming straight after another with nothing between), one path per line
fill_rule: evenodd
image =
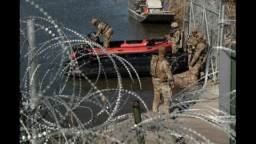
M150 74L152 76L152 82L154 85L154 101L153 101L153 114L158 113L158 107L161 103L161 93L164 97L164 114L170 113L170 98L172 96L172 89L174 87L174 79L172 73L169 71L169 63L164 58L166 49L164 46L160 46L158 49L158 55L152 55L150 61ZM171 87L167 83L169 83Z

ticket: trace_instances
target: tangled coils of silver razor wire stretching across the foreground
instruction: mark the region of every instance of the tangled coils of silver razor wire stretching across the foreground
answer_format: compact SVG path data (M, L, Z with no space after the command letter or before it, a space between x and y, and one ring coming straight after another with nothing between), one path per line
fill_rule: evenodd
M172 105L169 108L174 111L170 115L153 116L149 106L140 95L132 89L124 89L114 58L118 59L129 73L131 71L137 73L128 61L108 53L101 45L92 42L88 37L62 26L51 19L51 16L33 1L27 0L27 2L41 11L45 17L20 16L20 68L23 68L20 70L20 97L22 99L20 101L22 105L20 106L20 131L26 133L20 136L20 143L138 143L136 131L140 131L140 135L145 136L146 143L155 143L155 141L212 143L211 138L200 133L193 125L203 125L235 140L236 132L228 126L236 123L235 116L207 105L209 102L219 100L218 79L216 82L211 82L202 77L198 80L198 85L191 84L172 96ZM36 53L38 55L36 69L39 71L39 93L34 96L31 94L31 79L29 79L31 62L27 60L28 19L35 19L36 31L43 35L40 37L42 39L37 45ZM111 59L117 75L115 88L111 88L106 76L103 79L106 81L107 88L97 87L100 71L104 70L97 53L95 54L98 58L99 69L96 79L90 79L82 73L84 78L75 78L75 76L70 78L64 75L67 67L70 70L79 70L78 61L76 58L72 59L71 54L74 53L72 47L80 44L90 45L92 49L100 47ZM213 52L209 52L210 55L214 55L212 53L217 49L227 50L223 47L216 47L211 50ZM206 62L209 68L211 67L210 59L211 57L208 57ZM66 60L70 60L70 65L62 66ZM43 67L46 70L43 70ZM138 74L135 78L130 77L131 87L136 82L139 83L139 89L143 89ZM84 82L86 82L86 92L83 90L85 89ZM230 93L235 94L235 91ZM230 93L222 96L227 97ZM31 107L32 97L36 99L35 107ZM142 102L141 107L146 108L145 113L141 114L142 122L138 125L134 125L132 113L117 115L125 103L131 103L128 101L129 97L139 99ZM99 110L87 106L88 103L93 103ZM84 113L88 113L89 117L81 118L77 113L78 110L85 111ZM164 109L159 110L159 113L163 111ZM222 115L219 116L219 114ZM102 116L106 117L106 121L93 125L93 121L97 121Z

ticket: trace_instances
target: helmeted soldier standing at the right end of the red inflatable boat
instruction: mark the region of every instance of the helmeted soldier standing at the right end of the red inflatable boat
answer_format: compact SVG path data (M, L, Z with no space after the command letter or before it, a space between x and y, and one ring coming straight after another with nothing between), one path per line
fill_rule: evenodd
M168 42L172 43L172 53L177 53L180 45L181 30L179 29L179 24L177 22L173 22L171 27L171 33L167 36L169 38Z

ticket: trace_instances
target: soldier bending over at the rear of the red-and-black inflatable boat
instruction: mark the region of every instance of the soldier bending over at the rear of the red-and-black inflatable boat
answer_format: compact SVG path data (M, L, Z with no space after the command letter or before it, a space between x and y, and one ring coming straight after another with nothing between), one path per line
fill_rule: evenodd
M113 36L113 29L106 22L99 22L98 19L92 19L92 24L97 26L98 33L95 36L92 36L91 39L95 37L100 37L102 34L105 34L103 40L103 47L106 49L109 46L110 40Z

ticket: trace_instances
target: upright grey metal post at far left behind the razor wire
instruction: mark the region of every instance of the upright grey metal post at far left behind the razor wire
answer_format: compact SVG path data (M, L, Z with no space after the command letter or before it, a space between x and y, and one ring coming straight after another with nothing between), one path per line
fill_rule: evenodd
M37 56L37 34L36 21L34 19L27 20L28 33L28 63L29 63L29 81L31 93L31 108L34 109L36 105L36 95L39 93L39 73L38 73L38 56Z

